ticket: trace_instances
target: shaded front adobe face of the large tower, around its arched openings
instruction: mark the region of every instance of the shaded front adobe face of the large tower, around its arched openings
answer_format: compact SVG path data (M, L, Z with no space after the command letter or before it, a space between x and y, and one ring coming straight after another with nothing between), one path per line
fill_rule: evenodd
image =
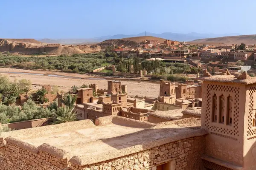
M246 117L244 108L245 105L247 105L244 102L246 101L245 85L240 83L204 81L202 89L202 99L205 102L202 103L201 112L203 114L201 115L201 128L204 128L209 132L206 136L205 154L223 161L233 162L234 164L243 166L243 117ZM233 97L233 106L231 108L233 109L232 126L211 121L213 105L212 97L214 94L217 96L217 101L220 99L221 95L223 95L225 99L227 99L229 95ZM220 102L216 103L216 108L220 108L218 106ZM227 103L226 100L225 103ZM217 113L220 112L218 110Z

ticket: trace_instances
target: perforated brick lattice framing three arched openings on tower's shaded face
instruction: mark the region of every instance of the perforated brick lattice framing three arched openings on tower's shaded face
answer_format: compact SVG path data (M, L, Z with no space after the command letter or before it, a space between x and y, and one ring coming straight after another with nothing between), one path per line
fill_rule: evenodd
M206 117L205 117L205 126L207 129L215 135L222 136L224 138L229 138L233 140L237 140L236 136L239 136L238 131L238 119L239 119L239 87L232 87L228 85L207 85L207 109L206 109ZM233 95L233 123L232 126L226 125L225 127L218 127L217 125L213 125L211 123L211 108L212 108L212 96L217 91L229 92L230 95ZM218 98L219 96L217 96ZM226 96L225 96L226 98Z

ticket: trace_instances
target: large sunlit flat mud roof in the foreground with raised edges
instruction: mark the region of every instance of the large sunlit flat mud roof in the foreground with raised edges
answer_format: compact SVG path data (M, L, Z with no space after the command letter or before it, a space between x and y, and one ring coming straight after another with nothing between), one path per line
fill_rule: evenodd
M0 138L34 153L42 150L74 164L87 165L207 134L196 118L161 124L121 116L98 120L98 126L87 119L0 133Z

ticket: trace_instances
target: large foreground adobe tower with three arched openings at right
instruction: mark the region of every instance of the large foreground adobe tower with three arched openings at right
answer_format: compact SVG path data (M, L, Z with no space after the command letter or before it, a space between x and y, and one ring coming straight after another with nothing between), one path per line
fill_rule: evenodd
M209 133L204 164L213 170L256 170L256 79L246 72L237 79L209 76L202 86L201 128Z

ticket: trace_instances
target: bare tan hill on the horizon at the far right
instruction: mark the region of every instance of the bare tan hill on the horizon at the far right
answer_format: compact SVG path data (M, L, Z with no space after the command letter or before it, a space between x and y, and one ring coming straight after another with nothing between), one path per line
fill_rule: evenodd
M229 37L217 37L217 38L204 38L193 40L191 42L209 44L209 43L224 43L227 45L241 44L242 42L246 45L256 44L256 35L239 35Z

